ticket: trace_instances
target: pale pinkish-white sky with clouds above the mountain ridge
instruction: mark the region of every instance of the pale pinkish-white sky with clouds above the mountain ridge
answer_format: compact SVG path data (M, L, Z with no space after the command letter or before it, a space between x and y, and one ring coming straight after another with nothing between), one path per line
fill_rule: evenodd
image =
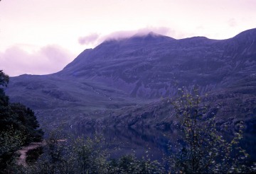
M150 31L228 39L256 28L256 0L0 0L0 69L60 71L109 38Z

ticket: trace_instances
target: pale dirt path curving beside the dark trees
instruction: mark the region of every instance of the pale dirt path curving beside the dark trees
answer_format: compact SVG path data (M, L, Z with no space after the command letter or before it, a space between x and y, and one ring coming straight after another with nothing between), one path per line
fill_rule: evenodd
M17 160L18 165L27 166L28 164L26 163L26 153L29 150L36 149L40 146L45 146L45 145L46 145L46 141L42 141L42 142L33 142L28 146L23 146L22 149L17 151L18 154L21 154L21 156L18 157L18 160Z

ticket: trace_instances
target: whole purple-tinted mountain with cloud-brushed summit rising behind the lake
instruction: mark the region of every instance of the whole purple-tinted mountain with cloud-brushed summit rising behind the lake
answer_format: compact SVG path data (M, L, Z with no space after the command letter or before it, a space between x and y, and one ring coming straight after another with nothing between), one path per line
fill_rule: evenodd
M156 126L175 123L168 99L161 98L196 85L208 93L210 110L221 105L220 125L255 125L255 40L256 29L228 40L156 33L107 40L58 73L11 78L6 93L51 123Z

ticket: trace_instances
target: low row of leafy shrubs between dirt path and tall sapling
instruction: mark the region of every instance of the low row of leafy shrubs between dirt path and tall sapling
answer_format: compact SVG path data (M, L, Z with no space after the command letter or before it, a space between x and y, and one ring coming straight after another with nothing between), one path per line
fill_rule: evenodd
M62 141L60 141L62 140ZM134 155L110 159L103 150L102 137L63 141L57 134L50 135L44 153L36 163L23 168L21 173L163 173L157 161L138 160Z

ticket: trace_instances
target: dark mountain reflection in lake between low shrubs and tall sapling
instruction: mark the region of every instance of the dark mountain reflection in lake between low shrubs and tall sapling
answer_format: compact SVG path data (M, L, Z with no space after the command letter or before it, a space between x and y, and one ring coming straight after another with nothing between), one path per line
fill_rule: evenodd
M84 129L72 129L75 136L94 137L100 135L107 142L107 149L112 157L135 153L137 158L146 157L146 151L151 159L161 160L167 153L168 134L171 130L124 128L124 127L85 127ZM165 134L166 133L166 134ZM173 132L174 133L174 132Z

